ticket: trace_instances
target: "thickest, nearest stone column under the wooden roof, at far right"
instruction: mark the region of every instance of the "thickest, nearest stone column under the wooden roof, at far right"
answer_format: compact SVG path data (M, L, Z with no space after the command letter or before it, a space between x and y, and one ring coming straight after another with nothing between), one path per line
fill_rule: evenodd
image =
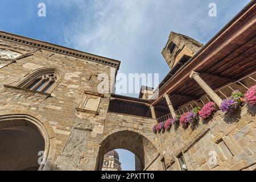
M204 80L199 76L200 74L197 72L192 71L189 77L193 78L197 84L201 86L201 88L208 94L210 98L220 107L221 105L221 98L218 97L216 93L204 82Z

